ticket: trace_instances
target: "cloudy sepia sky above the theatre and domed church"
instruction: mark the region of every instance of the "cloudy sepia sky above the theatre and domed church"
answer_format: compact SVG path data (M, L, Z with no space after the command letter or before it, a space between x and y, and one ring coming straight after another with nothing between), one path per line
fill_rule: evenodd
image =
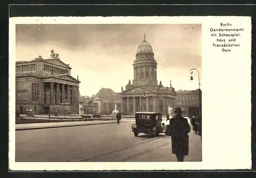
M80 95L95 95L101 87L121 92L133 80L133 61L144 39L153 47L157 80L175 90L198 88L202 78L200 24L99 24L99 25L16 25L16 61L47 59L51 50L70 64Z

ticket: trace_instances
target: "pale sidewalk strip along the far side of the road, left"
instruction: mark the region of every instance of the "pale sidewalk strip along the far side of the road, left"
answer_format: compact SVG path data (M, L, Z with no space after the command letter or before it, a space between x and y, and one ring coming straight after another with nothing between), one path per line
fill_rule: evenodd
M120 123L125 121L120 121ZM50 123L32 123L32 124L15 124L15 130L30 130L41 128L55 128L55 127L72 127L82 125L98 125L98 124L113 124L117 123L115 120L105 121L73 121L73 122L50 122Z

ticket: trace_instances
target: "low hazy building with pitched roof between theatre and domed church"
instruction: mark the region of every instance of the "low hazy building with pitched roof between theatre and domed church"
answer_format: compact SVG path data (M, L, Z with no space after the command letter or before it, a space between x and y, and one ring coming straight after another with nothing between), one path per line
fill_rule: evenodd
M110 88L101 88L99 92L94 95L93 105L94 113L102 115L110 115L115 109L117 104L117 110L121 110L121 96L120 93L115 93Z

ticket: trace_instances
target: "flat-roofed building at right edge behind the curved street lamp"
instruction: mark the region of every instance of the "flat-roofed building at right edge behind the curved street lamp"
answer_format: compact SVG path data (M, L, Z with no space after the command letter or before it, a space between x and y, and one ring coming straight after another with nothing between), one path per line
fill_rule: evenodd
M199 114L200 101L199 90L178 90L176 91L176 107L181 107L184 117L191 117L193 114ZM201 91L202 96L202 91ZM202 99L201 99L202 101Z

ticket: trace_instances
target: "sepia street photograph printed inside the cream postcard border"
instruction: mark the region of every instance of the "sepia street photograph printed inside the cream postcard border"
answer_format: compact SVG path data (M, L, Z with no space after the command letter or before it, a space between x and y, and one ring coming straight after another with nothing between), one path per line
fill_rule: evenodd
M201 162L201 24L16 25L16 162Z

